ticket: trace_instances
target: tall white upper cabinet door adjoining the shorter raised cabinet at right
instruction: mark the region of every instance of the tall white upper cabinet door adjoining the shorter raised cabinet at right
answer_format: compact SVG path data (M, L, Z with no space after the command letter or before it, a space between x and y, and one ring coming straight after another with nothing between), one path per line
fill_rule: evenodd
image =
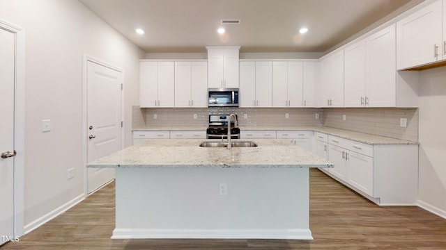
M397 106L395 24L367 38L367 106Z

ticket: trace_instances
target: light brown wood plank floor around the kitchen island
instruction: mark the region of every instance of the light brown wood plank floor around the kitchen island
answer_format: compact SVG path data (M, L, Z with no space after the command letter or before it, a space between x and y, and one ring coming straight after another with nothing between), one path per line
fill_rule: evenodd
M446 249L446 220L417 207L379 207L310 172L314 240L111 240L114 183L7 249Z

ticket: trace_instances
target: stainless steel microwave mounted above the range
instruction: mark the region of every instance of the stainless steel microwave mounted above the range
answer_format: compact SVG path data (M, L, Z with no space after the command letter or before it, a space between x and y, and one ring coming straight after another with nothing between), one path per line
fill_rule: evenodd
M209 88L208 107L238 107L238 88Z

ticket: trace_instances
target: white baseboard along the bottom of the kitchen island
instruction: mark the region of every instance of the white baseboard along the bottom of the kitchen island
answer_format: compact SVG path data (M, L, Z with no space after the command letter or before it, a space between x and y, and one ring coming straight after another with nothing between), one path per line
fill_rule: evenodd
M313 240L309 229L283 230L153 230L116 228L112 239L282 239Z

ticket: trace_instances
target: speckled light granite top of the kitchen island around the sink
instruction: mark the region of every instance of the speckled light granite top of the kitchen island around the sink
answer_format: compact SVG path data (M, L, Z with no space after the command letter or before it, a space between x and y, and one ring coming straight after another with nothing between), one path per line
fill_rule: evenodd
M212 140L206 140L212 141ZM221 140L213 140L221 141ZM232 140L243 141L243 140ZM333 167L289 140L254 140L258 147L206 148L203 140L160 139L133 145L89 163L88 167Z

